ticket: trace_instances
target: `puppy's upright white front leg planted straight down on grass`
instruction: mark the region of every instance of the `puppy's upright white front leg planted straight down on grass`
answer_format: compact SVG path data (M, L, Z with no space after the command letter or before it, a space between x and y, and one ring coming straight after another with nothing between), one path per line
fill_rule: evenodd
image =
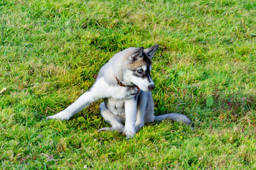
M135 131L135 121L137 113L137 101L134 99L127 99L125 101L125 131L123 134L126 138L133 138Z

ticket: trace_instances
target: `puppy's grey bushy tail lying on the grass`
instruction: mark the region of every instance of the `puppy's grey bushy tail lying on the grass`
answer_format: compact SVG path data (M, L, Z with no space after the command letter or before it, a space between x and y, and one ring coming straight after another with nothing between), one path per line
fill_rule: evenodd
M191 125L191 129L194 128L194 125L192 123L192 121L185 116L184 114L179 114L179 113L169 113L169 114L163 114L163 115L159 115L159 116L155 116L155 121L156 122L160 122L162 120L172 120L172 121L177 121L177 122L183 122L184 124L189 124Z

